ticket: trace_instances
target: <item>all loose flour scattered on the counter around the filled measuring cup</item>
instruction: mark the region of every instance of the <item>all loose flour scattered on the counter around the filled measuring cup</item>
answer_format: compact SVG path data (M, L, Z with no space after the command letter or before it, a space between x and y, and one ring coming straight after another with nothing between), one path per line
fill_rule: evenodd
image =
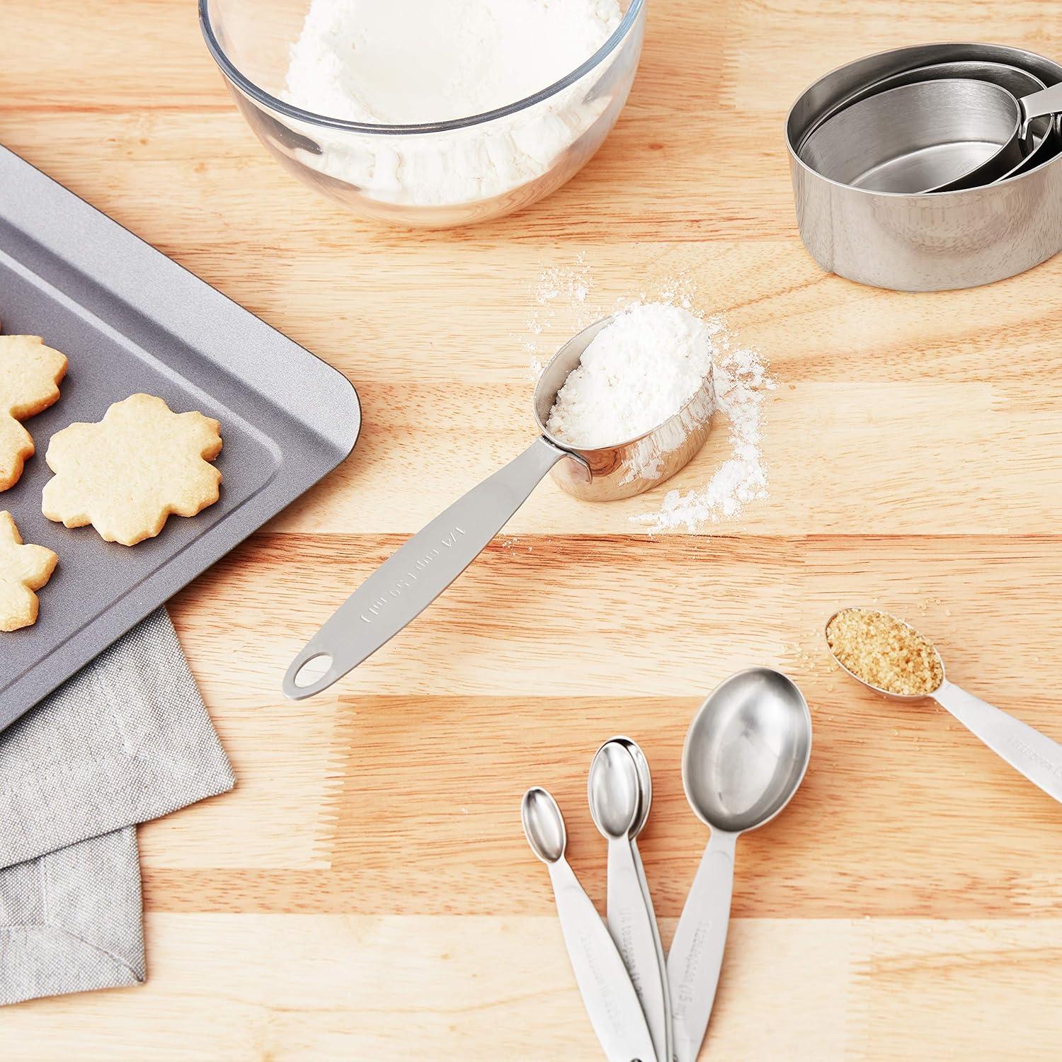
M704 461L695 459L670 481L658 509L633 516L649 529L696 532L706 525L738 518L744 508L768 497L767 462L763 452L764 402L775 381L754 347L739 344L721 314L698 308L698 289L687 272L647 285L637 297L617 298L611 305L597 294L584 254L569 268L544 269L532 287L532 309L524 338L529 372L537 380L549 358L568 337L601 318L631 306L665 303L689 310L704 320L710 335L716 390L714 436L725 430L727 452L703 477ZM720 414L725 417L725 424Z

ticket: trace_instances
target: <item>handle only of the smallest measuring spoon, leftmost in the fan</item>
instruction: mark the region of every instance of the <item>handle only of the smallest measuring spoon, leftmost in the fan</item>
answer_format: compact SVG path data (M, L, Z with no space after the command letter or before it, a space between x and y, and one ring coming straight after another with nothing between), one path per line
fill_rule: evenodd
M653 1062L649 1026L594 903L564 859L549 864L556 913L586 1013L609 1062Z

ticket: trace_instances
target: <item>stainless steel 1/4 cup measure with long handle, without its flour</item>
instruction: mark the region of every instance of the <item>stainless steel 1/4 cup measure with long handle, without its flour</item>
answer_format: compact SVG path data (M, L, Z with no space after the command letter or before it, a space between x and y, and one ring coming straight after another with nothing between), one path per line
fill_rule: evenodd
M412 622L483 551L546 473L577 498L613 501L663 482L700 450L715 408L710 373L663 424L614 446L580 449L546 429L556 392L613 320L584 328L553 356L534 390L539 436L413 535L340 605L292 661L284 678L287 697L302 700L327 689Z

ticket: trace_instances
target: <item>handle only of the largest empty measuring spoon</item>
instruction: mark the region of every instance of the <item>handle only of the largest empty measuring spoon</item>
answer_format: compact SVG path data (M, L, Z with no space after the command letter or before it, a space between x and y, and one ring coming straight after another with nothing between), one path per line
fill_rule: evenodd
M716 999L730 927L737 834L713 829L667 957L676 1062L696 1062Z

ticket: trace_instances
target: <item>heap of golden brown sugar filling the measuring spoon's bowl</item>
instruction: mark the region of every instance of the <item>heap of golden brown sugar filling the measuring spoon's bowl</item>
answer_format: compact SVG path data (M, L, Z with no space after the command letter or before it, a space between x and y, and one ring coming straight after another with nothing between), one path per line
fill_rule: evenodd
M932 643L885 612L841 610L826 624L826 643L857 679L888 693L919 697L944 681Z

